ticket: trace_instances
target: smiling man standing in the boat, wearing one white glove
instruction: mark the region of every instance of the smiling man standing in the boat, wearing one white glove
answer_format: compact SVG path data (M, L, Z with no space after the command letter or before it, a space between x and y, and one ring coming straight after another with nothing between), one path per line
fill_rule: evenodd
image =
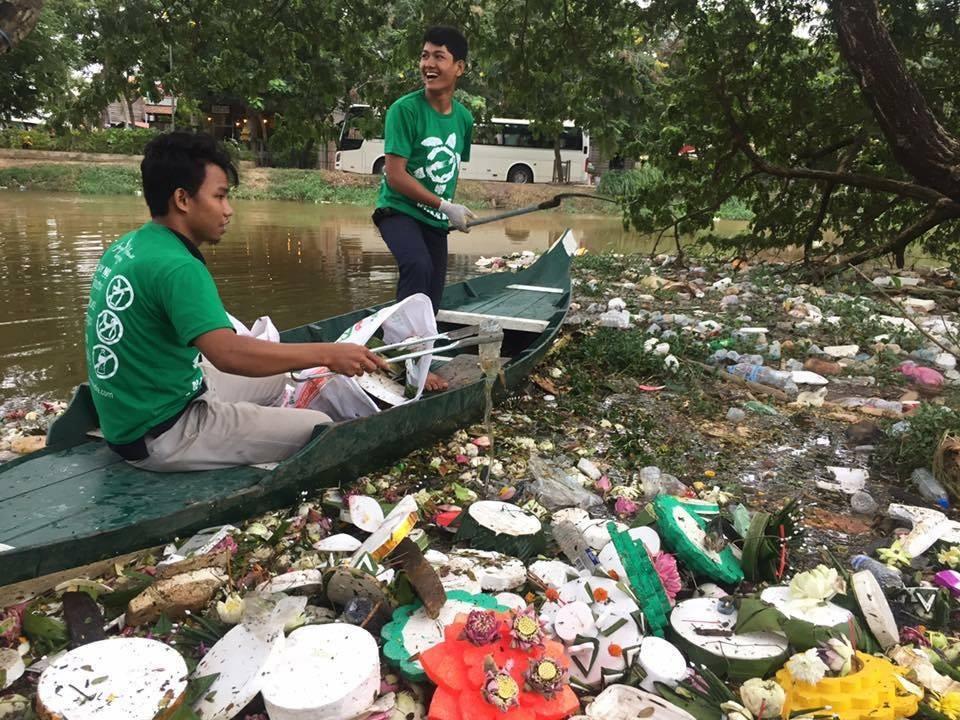
M396 100L387 111L384 175L373 221L397 260L397 300L423 293L440 307L447 277L447 232L467 232L475 215L453 201L460 163L470 160L473 116L453 98L466 70L467 40L451 27L423 36L423 87ZM433 375L427 390L444 390Z

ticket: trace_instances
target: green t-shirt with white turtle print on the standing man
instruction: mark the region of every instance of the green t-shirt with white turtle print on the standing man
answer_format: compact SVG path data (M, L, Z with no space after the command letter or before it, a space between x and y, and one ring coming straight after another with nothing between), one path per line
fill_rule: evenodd
M473 116L456 100L449 115L441 115L427 102L424 91L404 95L387 110L383 150L407 159L407 172L427 190L453 200L460 162L470 161ZM446 228L447 216L439 210L401 195L380 182L378 208L391 208L427 225Z

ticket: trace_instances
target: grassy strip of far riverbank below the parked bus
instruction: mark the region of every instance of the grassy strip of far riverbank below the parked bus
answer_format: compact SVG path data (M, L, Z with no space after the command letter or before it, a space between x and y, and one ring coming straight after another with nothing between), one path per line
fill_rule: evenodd
M31 157L36 153L36 159ZM63 159L57 156L62 155ZM0 151L0 188L43 192L75 192L83 195L135 195L140 191L139 156L77 154L52 151ZM615 191L629 182L634 171L611 173L601 182L598 194ZM613 178L616 178L614 180ZM238 200L284 200L304 203L338 203L372 207L379 178L336 170L261 168L241 162L240 185L232 196ZM518 185L504 182L463 180L458 200L477 209L513 209L533 205L570 190L552 184ZM609 188L609 189L608 189ZM574 198L561 206L570 213L617 215L618 206ZM752 213L731 199L717 213L723 220L749 220Z

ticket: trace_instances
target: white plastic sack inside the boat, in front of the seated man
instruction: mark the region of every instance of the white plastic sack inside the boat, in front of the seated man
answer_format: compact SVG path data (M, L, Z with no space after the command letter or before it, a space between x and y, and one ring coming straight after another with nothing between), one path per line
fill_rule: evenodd
M373 315L347 328L337 338L337 342L366 345L380 327L383 328L383 341L386 344L436 335L437 320L433 314L430 298L423 294L411 295L394 305L381 308ZM404 348L403 352L415 352L432 347L431 340L423 343L422 346ZM431 359L431 355L424 355L406 361L407 385L416 388L412 400L419 399L423 394ZM306 374L319 374L326 370L327 368L322 367L313 368L306 371ZM377 375L368 374L359 378L332 375L300 383L294 394L293 404L298 408L319 410L334 420L351 420L379 412L371 395L393 406L410 401L402 393L386 387L378 380Z

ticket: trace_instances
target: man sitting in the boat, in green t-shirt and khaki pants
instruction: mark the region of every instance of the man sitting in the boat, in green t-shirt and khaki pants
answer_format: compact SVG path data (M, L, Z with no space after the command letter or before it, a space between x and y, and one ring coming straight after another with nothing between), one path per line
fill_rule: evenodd
M87 309L87 373L104 437L131 464L158 472L293 455L330 418L272 407L285 373L325 365L355 376L386 363L361 345L234 332L200 252L226 232L237 182L212 137L160 135L140 171L152 219L103 254Z

